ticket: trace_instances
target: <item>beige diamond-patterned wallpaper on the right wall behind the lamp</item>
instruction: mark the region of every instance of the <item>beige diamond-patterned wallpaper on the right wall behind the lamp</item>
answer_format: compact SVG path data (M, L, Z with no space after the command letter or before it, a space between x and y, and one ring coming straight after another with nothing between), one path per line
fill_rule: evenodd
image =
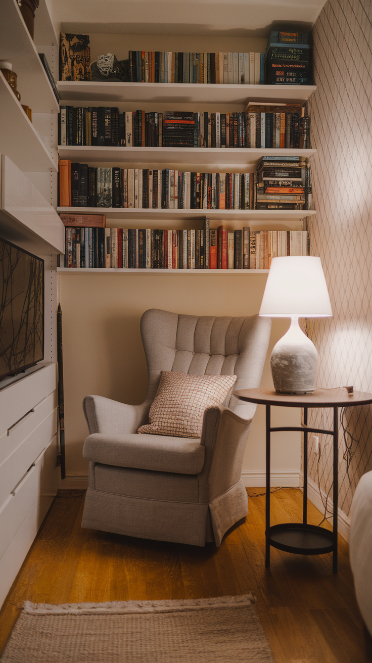
M320 356L318 386L353 385L372 391L372 3L328 0L314 26L312 123L315 217L309 217L311 255L322 259L333 318L308 321ZM340 412L340 508L349 514L353 491L372 469L372 410ZM332 412L314 411L313 425L332 428ZM343 435L343 427L345 434ZM312 440L312 438L310 438ZM332 487L332 438L322 452L310 445L309 474L325 493ZM330 492L332 497L332 491Z

